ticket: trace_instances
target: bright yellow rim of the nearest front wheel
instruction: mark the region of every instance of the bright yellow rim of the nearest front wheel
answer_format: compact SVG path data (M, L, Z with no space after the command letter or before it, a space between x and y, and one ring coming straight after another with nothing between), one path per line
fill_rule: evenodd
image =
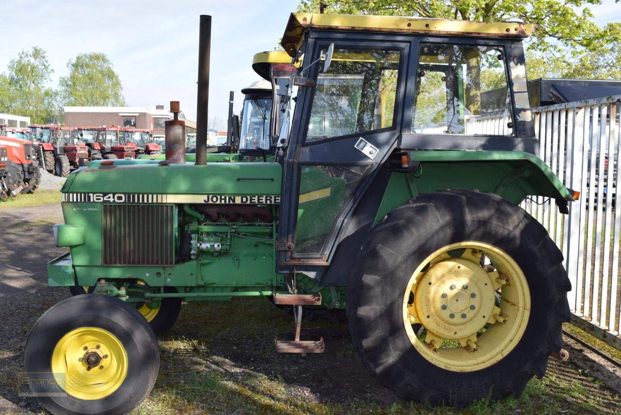
M120 340L97 327L68 332L52 352L52 372L60 379L61 388L86 401L114 393L124 382L127 368L127 353Z

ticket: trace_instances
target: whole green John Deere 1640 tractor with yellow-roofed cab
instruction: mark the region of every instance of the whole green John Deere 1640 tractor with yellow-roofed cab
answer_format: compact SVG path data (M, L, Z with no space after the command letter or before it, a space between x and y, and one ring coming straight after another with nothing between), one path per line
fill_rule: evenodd
M561 350L571 289L561 252L519 207L544 196L567 212L574 199L535 156L532 30L291 14L282 45L303 64L271 69L269 142L207 155L201 16L195 162L91 162L63 186L55 238L70 252L48 264L48 284L93 293L30 332L40 403L129 411L155 383L155 336L181 301L240 296L294 308L278 352L325 350L300 340L303 306L345 310L361 360L403 399L519 396ZM481 100L491 78L505 88L495 103ZM490 134L492 116L504 121Z

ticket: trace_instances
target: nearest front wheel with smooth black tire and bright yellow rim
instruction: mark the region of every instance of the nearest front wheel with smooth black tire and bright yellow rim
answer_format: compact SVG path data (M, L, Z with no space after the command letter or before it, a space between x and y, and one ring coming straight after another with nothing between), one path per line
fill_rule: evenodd
M30 331L25 372L58 378L39 403L54 414L127 413L153 388L160 353L135 308L106 295L75 296L48 309ZM63 392L65 396L63 396Z

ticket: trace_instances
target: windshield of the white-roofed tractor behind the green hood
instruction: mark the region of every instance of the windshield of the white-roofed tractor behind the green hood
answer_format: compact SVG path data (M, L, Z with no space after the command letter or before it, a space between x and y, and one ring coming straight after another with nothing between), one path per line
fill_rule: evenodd
M271 98L247 98L243 101L240 148L270 148Z

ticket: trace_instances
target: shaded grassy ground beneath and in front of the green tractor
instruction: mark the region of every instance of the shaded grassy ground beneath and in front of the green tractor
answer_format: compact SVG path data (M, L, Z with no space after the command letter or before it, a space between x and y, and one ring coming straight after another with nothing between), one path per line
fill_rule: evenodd
M459 411L396 398L363 368L343 323L304 321L302 339L323 336L323 355L283 355L292 318L267 300L190 303L160 339L160 374L134 414L515 414L615 413L621 398L571 361L551 359L517 399L479 399Z

